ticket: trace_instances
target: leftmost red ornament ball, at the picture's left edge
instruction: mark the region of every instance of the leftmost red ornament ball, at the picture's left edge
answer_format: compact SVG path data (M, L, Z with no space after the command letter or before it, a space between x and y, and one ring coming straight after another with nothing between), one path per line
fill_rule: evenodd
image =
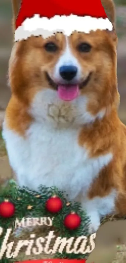
M4 218L12 217L15 213L15 206L8 200L0 203L0 216Z

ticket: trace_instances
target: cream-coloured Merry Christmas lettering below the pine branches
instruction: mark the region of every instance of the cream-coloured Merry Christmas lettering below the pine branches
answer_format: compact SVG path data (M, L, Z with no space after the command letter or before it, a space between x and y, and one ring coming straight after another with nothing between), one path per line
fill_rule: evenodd
M31 217L31 218L23 218L21 221L16 219L14 222L14 228L17 229L19 227L35 227L35 226L52 226L53 218L50 217ZM3 255L6 258L16 258L19 255L19 252L22 248L26 248L25 255L39 255L41 253L46 254L55 254L56 252L62 253L66 251L66 253L74 253L74 254L86 254L91 253L95 248L95 237L96 233L93 233L89 237L87 236L79 236L79 237L57 237L54 234L54 231L49 231L48 235L45 237L36 237L36 234L32 233L29 235L28 240L18 240L11 241L8 243L9 238L13 232L12 228L8 228L2 246L0 248L0 260ZM3 228L0 227L0 237L3 234ZM53 246L50 248L50 244L53 242ZM16 243L16 244L15 244ZM14 248L14 249L13 249Z

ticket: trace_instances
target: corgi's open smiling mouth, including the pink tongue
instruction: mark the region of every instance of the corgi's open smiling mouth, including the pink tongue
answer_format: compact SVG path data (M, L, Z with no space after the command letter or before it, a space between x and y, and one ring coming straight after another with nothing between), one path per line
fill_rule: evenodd
M79 95L79 90L85 87L88 82L90 81L92 72L88 74L88 77L81 83L79 84L56 84L50 78L48 75L48 72L45 72L46 74L46 79L48 80L49 85L52 86L53 89L57 90L58 92L58 97L62 100L65 101L70 101L78 97Z

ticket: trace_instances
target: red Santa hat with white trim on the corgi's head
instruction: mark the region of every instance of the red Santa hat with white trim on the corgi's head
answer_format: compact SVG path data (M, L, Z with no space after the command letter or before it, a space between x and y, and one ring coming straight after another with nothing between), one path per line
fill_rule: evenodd
M101 0L22 0L16 20L15 41L31 35L47 38L56 32L113 30Z

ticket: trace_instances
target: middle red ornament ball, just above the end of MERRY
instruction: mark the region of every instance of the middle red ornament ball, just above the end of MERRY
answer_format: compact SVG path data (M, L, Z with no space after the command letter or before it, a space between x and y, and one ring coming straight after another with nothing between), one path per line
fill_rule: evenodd
M46 201L46 209L48 212L57 213L63 207L63 202L58 196L52 196Z

